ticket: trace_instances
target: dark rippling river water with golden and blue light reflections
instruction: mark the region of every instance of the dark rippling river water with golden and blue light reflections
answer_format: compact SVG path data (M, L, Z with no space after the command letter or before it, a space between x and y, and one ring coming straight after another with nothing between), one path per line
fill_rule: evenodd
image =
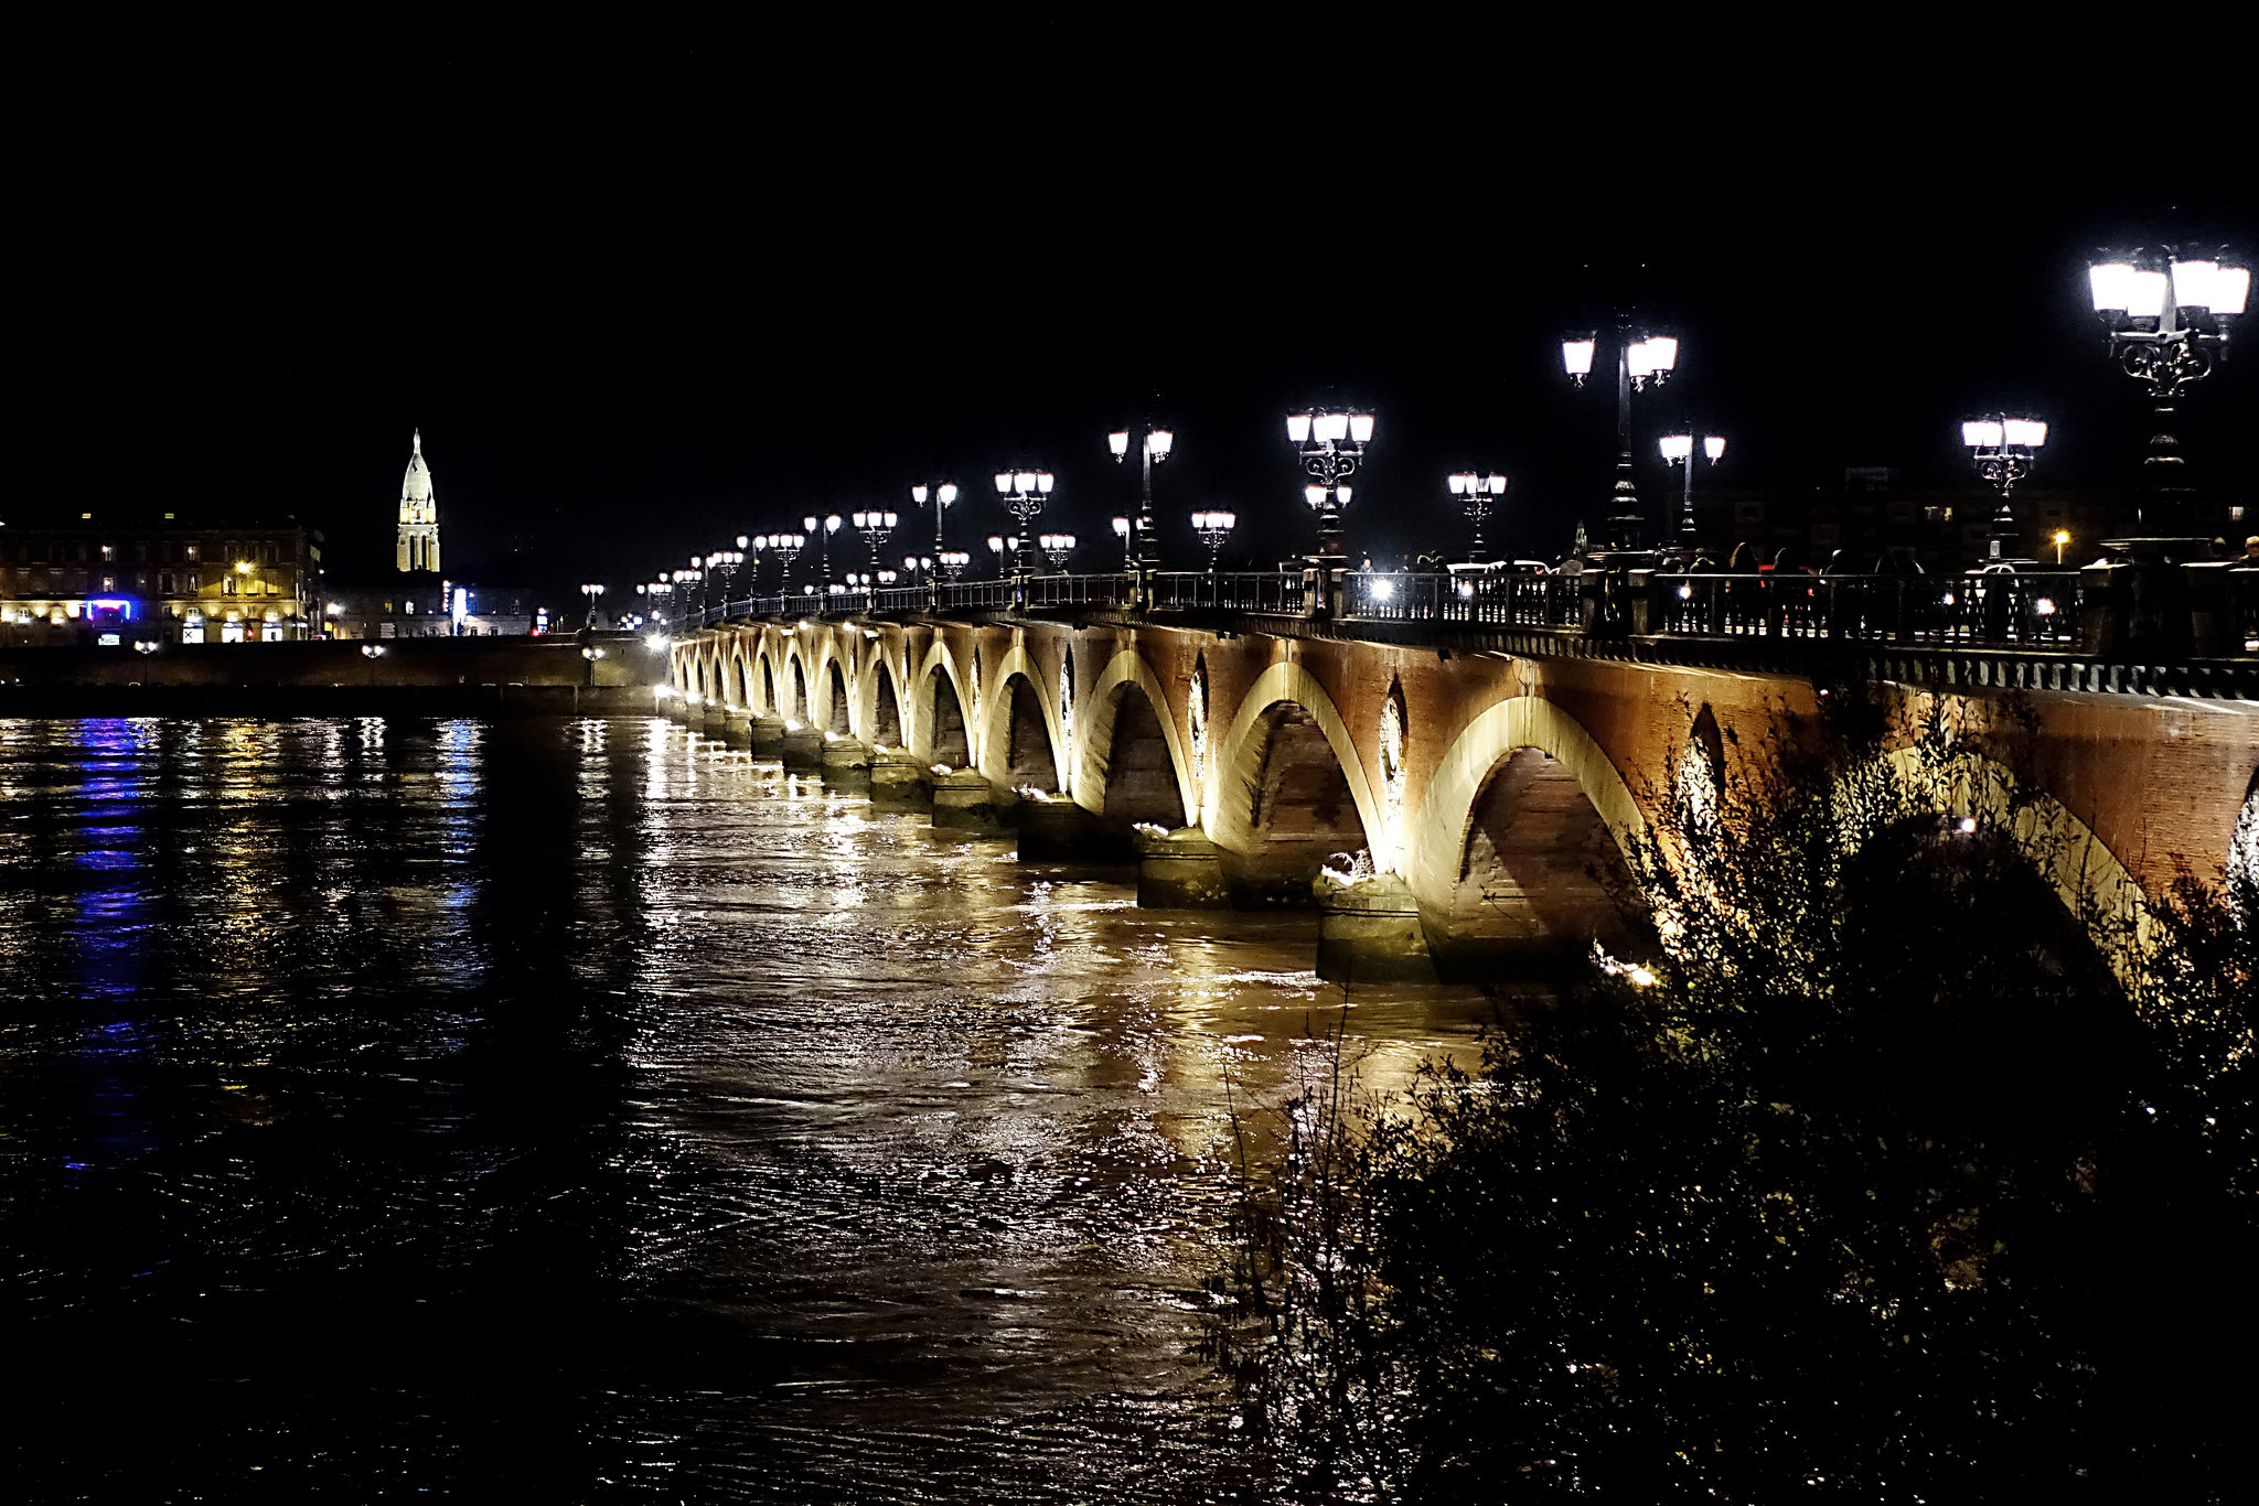
M1489 1005L1120 878L657 718L0 720L11 1481L1238 1499L1227 1084Z

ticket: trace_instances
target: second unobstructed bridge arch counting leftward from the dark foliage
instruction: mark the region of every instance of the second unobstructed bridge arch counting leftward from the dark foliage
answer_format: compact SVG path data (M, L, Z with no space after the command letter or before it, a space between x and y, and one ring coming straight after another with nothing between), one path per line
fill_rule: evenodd
M1394 867L1355 738L1310 671L1281 662L1256 675L1224 734L1204 799L1224 878L1251 903L1312 903L1337 851Z

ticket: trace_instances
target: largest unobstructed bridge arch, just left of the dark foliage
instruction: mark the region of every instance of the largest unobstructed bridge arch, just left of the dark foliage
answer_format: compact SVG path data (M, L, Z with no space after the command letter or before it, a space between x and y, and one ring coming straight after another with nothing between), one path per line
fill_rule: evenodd
M1403 878L1446 975L1626 946L1647 930L1624 863L1645 815L1577 718L1538 695L1477 713L1405 822Z

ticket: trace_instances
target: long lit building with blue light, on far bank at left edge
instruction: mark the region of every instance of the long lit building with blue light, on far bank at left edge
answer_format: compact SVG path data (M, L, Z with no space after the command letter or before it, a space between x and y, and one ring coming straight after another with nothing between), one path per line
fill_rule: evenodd
M321 535L81 513L0 524L0 643L280 643L319 637Z

